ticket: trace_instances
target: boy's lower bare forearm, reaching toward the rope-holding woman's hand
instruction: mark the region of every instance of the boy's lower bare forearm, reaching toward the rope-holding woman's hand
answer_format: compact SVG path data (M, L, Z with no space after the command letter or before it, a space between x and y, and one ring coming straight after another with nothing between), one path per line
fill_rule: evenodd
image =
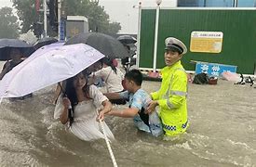
M139 109L137 108L128 108L122 110L111 110L107 114L123 118L133 118L136 114L138 114L138 112Z

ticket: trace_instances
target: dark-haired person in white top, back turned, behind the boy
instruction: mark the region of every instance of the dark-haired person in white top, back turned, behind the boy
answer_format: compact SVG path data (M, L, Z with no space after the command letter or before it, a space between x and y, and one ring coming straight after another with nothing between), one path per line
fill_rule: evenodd
M101 78L106 87L106 92L103 93L119 93L124 91L122 81L124 80L124 74L120 69L115 67L112 58L102 58L103 67L99 71L95 71L93 78ZM123 99L111 100L115 104L125 104Z

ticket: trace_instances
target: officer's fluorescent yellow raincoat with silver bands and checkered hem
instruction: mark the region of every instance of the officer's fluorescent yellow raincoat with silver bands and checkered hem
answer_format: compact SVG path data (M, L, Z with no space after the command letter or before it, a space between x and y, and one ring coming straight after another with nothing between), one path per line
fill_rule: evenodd
M160 107L160 117L166 135L179 135L186 131L187 120L187 74L181 61L161 71L162 83L151 94Z

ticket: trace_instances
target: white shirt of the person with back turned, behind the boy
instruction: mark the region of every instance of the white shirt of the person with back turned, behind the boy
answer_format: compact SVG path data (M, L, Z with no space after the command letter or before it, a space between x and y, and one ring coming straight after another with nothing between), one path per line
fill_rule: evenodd
M94 73L96 77L101 77L106 83L106 89L108 93L121 92L124 90L122 85L122 80L124 79L124 74L118 68L116 68L116 73L111 69L110 66L102 68L100 71Z

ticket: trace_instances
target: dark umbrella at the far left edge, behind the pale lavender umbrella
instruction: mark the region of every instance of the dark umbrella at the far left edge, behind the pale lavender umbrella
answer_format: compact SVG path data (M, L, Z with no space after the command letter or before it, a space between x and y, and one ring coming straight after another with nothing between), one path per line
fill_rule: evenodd
M34 52L33 45L21 41L19 39L0 39L0 60L10 59L10 49L18 48L23 57L29 57Z

